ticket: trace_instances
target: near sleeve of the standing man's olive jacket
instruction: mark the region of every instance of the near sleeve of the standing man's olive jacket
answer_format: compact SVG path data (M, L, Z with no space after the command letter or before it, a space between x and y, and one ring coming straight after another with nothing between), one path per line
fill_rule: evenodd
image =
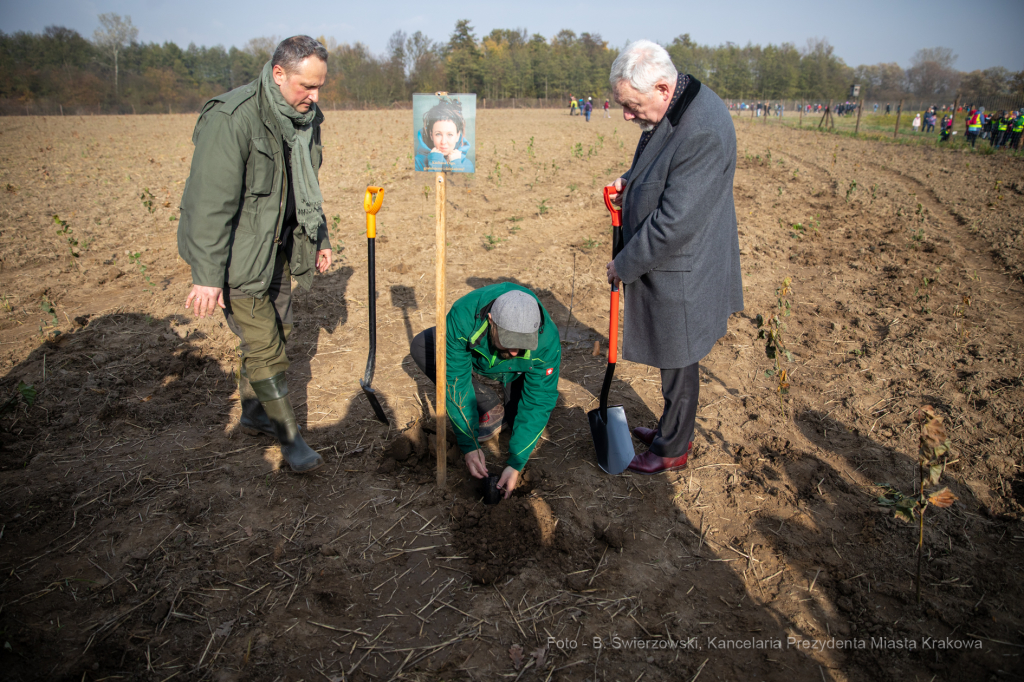
M196 153L178 223L178 253L193 270L193 284L223 287L231 226L244 190L249 135L238 120L208 112L196 131Z

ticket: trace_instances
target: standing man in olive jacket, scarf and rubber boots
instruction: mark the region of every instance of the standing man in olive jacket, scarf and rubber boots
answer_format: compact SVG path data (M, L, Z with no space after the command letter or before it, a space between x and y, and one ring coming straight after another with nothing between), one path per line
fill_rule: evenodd
M185 307L206 317L219 306L241 341L242 427L278 438L297 472L324 463L288 399L285 343L292 278L308 290L313 270L331 266L316 106L327 58L312 38L288 38L259 78L206 103L178 222L193 273Z

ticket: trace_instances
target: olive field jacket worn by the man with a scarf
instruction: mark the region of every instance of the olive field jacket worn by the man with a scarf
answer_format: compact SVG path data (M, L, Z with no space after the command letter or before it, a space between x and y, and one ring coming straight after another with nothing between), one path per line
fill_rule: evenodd
M313 118L310 158L324 161L321 123ZM193 132L196 153L181 196L178 253L193 284L239 289L262 297L273 278L288 198L284 140L260 79L210 99ZM290 268L309 289L316 251L330 249L327 221L317 239L293 232Z

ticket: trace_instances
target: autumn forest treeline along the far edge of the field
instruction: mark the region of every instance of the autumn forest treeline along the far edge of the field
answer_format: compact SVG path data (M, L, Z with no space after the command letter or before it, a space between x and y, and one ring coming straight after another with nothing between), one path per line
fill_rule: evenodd
M42 33L0 32L0 113L168 113L199 111L209 97L252 81L279 37L224 48L138 42L131 17L101 14L92 39L51 26ZM477 37L466 19L446 42L395 32L383 54L362 43L321 36L330 51L324 109L403 106L413 92L475 92L484 99L548 100L569 94L608 96L617 49L597 33L563 30L552 38L525 29L495 29ZM700 45L684 34L666 45L676 67L727 99L844 100L852 84L866 100L985 102L1024 95L1024 70L953 68L943 47L919 50L909 69L898 63L850 67L823 39L766 46Z

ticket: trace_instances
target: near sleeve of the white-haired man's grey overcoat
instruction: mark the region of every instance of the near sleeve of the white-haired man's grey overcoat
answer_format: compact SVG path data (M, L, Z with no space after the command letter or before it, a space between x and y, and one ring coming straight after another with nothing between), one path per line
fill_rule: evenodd
M630 284L671 259L685 254L690 241L703 226L706 202L714 185L721 183L732 160L725 154L722 138L714 130L693 133L691 140L676 151L655 208L644 218L623 250L615 256L615 271ZM630 199L643 197L643 187Z

